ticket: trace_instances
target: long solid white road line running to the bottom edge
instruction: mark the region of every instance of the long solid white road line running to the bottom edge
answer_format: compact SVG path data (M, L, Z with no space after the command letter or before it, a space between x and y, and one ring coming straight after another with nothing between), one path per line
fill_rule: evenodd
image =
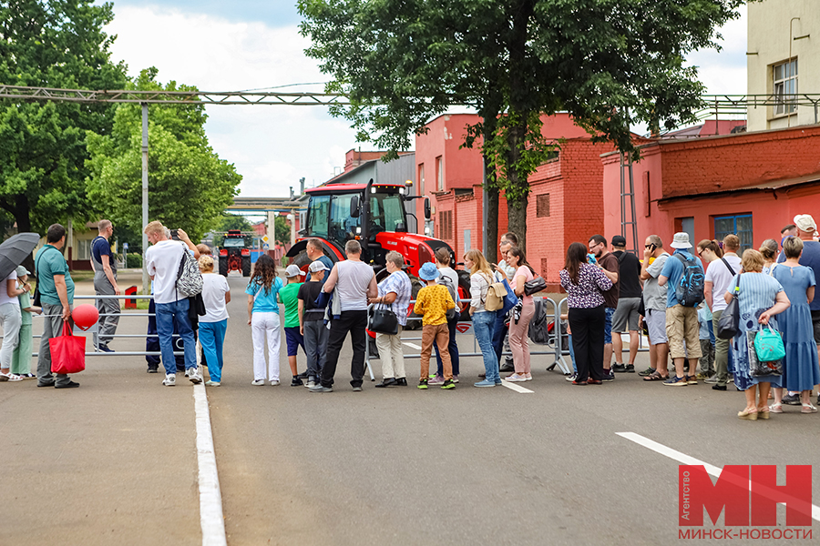
M200 527L202 546L226 546L225 520L222 516L220 477L213 450L213 434L210 430L210 410L205 385L194 385L194 409L197 422L197 465L200 482Z

